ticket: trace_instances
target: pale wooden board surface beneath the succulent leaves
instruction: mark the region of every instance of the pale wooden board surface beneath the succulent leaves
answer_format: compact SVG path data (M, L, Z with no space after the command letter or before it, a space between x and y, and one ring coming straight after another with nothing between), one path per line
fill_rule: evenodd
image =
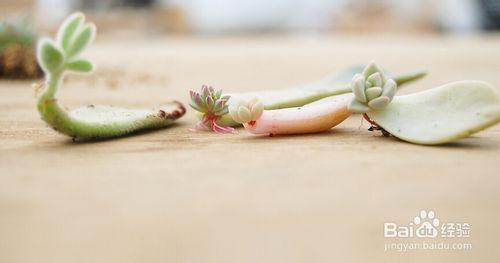
M68 107L187 102L188 90L285 88L376 60L426 68L414 92L500 87L500 36L100 37ZM383 138L359 117L330 132L254 137L178 125L95 143L45 126L29 82L0 82L0 262L495 262L500 127L441 147ZM472 225L471 251L384 252L382 225L421 209Z

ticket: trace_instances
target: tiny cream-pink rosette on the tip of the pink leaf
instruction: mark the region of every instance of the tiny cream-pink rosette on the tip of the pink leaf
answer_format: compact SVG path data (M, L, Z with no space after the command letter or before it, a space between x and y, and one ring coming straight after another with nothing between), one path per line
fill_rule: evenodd
M264 111L264 104L257 98L245 101L240 100L236 105L229 106L229 114L238 123L255 122Z

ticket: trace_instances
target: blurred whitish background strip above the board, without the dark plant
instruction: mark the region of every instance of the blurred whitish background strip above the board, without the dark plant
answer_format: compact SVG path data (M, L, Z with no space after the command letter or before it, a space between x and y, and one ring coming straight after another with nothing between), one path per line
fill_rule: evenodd
M0 0L2 19L38 29L82 10L101 32L471 33L500 28L499 0Z

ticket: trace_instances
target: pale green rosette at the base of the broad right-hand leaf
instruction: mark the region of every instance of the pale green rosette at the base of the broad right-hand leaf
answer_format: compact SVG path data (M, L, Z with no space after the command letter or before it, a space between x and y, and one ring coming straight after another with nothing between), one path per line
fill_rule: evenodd
M396 94L397 84L388 79L375 64L370 63L363 73L354 75L351 81L354 99L348 108L355 113L367 113L386 107Z

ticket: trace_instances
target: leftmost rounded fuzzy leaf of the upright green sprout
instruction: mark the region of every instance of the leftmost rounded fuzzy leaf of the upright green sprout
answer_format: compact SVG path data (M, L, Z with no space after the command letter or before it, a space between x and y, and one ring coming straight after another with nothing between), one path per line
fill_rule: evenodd
M64 54L54 42L43 39L38 45L38 62L45 72L55 72L64 64Z

